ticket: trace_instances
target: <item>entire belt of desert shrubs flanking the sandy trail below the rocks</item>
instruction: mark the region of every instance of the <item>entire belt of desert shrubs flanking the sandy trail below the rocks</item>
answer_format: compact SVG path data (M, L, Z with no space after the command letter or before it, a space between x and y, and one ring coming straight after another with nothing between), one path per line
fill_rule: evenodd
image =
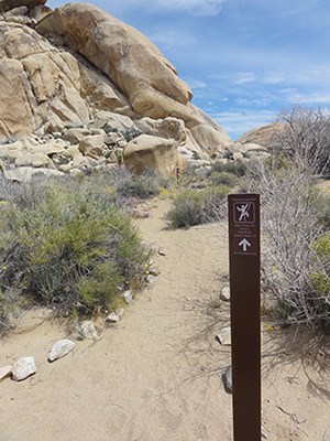
M319 186L330 173L330 120L295 108L279 121L267 160L215 161L202 178L133 175L119 166L31 184L1 180L1 326L26 303L87 314L140 289L151 250L129 216L131 204L169 196L168 227L188 228L224 219L230 192L255 192L266 309L282 325L330 332L330 196Z

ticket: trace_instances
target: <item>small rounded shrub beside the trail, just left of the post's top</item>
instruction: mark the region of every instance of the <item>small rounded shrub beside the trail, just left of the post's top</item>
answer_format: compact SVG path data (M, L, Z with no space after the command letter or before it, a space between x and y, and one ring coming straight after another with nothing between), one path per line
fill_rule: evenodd
M228 186L209 190L184 190L173 200L166 220L170 228L188 228L220 219L226 213Z

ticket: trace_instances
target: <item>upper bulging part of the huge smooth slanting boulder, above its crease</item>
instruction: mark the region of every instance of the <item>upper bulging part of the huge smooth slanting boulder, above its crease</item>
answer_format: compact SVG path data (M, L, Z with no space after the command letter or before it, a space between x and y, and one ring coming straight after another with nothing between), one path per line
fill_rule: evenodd
M113 80L139 112L147 106L145 92L183 105L190 100L190 88L175 67L134 28L88 3L69 3L61 8L61 15L72 47Z

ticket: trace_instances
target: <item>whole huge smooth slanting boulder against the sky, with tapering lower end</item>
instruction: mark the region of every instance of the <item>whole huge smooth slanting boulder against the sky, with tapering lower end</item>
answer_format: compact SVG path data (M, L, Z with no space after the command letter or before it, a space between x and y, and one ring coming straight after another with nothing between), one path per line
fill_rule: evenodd
M197 142L210 152L232 142L223 129L191 105L189 86L143 34L87 3L69 3L59 12L59 26L72 49L105 73L135 112L184 120Z

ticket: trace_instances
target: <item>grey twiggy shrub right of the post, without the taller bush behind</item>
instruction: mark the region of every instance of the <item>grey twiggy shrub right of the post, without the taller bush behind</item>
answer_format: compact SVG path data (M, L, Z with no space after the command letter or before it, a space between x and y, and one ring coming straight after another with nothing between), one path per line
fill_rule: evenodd
M290 162L251 165L245 190L261 194L262 280L276 300L275 316L283 324L329 327L329 255L326 207L314 171Z

